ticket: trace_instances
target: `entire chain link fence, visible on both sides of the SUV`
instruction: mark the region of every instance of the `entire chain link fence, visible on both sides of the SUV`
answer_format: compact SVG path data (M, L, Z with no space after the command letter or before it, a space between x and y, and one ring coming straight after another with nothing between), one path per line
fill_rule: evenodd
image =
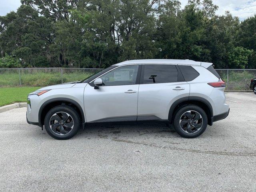
M0 87L49 86L81 81L103 69L94 68L12 68L0 69ZM249 90L256 69L216 69L226 90Z

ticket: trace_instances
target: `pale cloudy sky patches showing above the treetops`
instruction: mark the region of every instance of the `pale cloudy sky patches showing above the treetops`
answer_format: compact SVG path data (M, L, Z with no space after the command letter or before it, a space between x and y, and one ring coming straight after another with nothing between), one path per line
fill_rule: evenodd
M184 7L188 0L180 0ZM256 0L213 0L213 3L219 6L216 12L219 15L230 11L233 16L238 16L240 20L256 14ZM20 6L20 0L0 0L0 16L6 15L10 11L16 11Z

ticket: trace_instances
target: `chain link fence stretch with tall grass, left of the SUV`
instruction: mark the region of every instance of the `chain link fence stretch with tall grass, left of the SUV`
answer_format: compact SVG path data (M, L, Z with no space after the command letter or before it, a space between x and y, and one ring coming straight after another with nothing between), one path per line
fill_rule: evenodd
M0 69L0 87L44 87L81 81L103 69L91 68L12 68Z

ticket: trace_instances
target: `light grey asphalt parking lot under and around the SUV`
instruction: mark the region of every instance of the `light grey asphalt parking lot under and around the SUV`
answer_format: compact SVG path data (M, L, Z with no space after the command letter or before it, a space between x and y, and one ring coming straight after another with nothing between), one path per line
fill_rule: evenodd
M198 138L165 124L88 126L55 140L0 114L0 191L256 191L256 95L226 93L230 115Z

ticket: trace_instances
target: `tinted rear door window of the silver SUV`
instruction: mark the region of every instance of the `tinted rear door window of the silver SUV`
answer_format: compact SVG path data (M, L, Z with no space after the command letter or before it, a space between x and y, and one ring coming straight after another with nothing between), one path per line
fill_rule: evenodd
M143 83L177 82L178 71L175 65L144 65Z

